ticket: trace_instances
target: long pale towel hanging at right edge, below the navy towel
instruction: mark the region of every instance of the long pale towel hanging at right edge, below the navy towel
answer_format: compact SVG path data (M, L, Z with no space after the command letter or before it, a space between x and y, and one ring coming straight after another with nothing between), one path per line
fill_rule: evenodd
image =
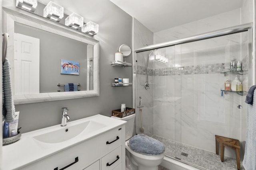
M247 133L243 166L246 170L256 170L256 90L253 104L247 107Z

